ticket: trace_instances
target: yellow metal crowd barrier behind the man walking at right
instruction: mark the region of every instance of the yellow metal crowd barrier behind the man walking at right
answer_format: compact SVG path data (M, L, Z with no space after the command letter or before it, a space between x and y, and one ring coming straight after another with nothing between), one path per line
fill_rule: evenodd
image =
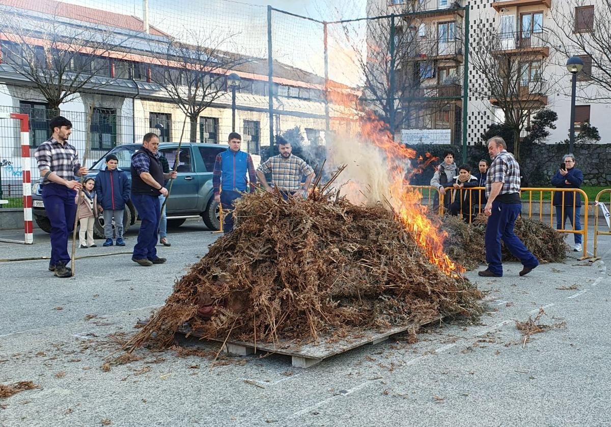
M434 187L430 187L430 186L425 186L425 185L410 185L409 187L416 187L416 188L430 188L431 190L437 190ZM468 222L468 223L472 223L472 221L474 220L474 218L481 212L483 212L484 207L485 207L485 203L483 203L483 195L485 195L485 187L470 187L470 188L452 188L452 187L447 187L445 188L445 197L450 197L450 203L448 203L448 205L450 206L450 211L451 213L456 213L456 215L463 215L464 219ZM606 190L603 190L601 193L604 193ZM465 195L464 192L469 192L468 195ZM477 193L474 193L477 192ZM580 234L582 235L582 249L583 249L583 256L580 258L581 260L583 259L587 259L588 258L588 253L587 253L587 246L588 246L588 195L584 192L584 190L581 190L580 188L521 188L521 192L522 193L528 193L528 198L527 199L522 199L522 203L527 202L528 203L528 209L527 212L522 212L522 215L527 215L527 218L533 218L536 217L536 212L534 212L537 209L533 209L533 207L537 207L538 206L538 217L539 220L541 222L543 222L543 211L545 210L546 206L549 206L549 226L551 226L551 228L556 228L556 231L560 232L560 233L566 233L566 234ZM611 192L611 189L609 190L609 192ZM439 192L439 190L437 190L437 193L439 193L439 214L440 215L444 215L445 213L445 203L444 203L444 195L442 193ZM549 199L547 199L546 193L549 193ZM558 221L558 215L556 212L556 206L554 206L554 195L555 193L562 193L561 196L561 206L560 207L560 221ZM573 203L572 204L568 204L565 205L565 200L566 198L566 194L567 193L572 193L573 195ZM599 193L599 195L601 194ZM535 197L533 198L533 194L535 195ZM577 198L575 197L576 194L581 195L582 197L582 207L584 207L584 212L580 212L579 217L576 215L576 211L577 211ZM538 197L537 197L538 196ZM455 203L456 201L456 197L460 198L461 203L458 204L458 206L454 205L453 203ZM468 200L468 202L467 202ZM467 202L467 203L464 203ZM468 212L464 212L463 206L466 205L468 207ZM575 229L571 229L568 230L566 229L566 215L565 212L566 210L568 210L569 208L572 207L571 212L573 212L572 217L570 218L570 222L571 224L575 224L577 220L580 219L581 215L584 215L583 217L583 224L581 224L582 226L580 227L580 230L575 230ZM524 205L522 205L522 210L524 211ZM555 222L554 222L555 220ZM547 220L546 220L547 222ZM579 221L577 221L579 222ZM602 234L602 233L600 233ZM611 235L611 232L609 233Z

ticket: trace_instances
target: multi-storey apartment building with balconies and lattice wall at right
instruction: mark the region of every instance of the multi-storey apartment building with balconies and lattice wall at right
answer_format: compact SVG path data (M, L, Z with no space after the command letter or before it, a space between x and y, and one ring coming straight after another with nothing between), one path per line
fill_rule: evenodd
M560 0L369 0L370 4L378 7L386 5L388 13L411 13L411 29L415 29L416 40L420 43L431 40L436 45L437 53L452 49L448 40L453 36L455 48L453 56L435 56L428 58L422 52L416 52L421 65L425 67L428 79L418 82L422 94L419 99L422 106L431 105L433 99L440 95L434 90L453 90L452 95L462 93L463 62L464 62L464 10L469 8L469 44L470 54L477 49L478 44L491 43L491 37L497 41L494 54L507 57L507 60L516 63L519 70L519 90L516 93L516 105L522 109L532 111L548 108L558 114L557 129L551 130L548 143L565 140L568 137L571 113L571 74L565 68L566 54L561 53L566 40L558 36L558 27L554 20L554 13L574 17L572 25L576 32L591 30L593 16L597 7L603 7L601 0L584 1L579 4L569 4ZM404 26L403 20L399 26ZM402 29L399 29L402 30ZM580 56L583 52L571 52ZM432 62L422 62L424 59L433 59ZM577 102L576 102L576 130L579 131L582 123L589 122L598 127L601 134L601 143L611 138L611 126L605 117L607 106L587 101L592 88L587 87L588 76L591 73L591 59L582 56L585 66L578 76ZM469 67L468 109L467 109L467 143L477 144L481 135L492 123L504 120L501 100L494 96L483 96L485 85L488 84L484 76ZM445 87L442 82L447 81L448 75L456 75L452 88ZM445 95L445 94L444 94ZM433 99L431 99L433 98ZM519 100L519 102L518 102ZM445 110L436 110L437 106L423 110L420 123L410 123L414 128L422 128L428 132L435 129L452 129L450 142L457 143L456 134L461 132L460 120L461 104L456 102L450 107L450 114ZM448 117L449 116L449 117ZM454 120L452 120L452 117ZM449 119L449 120L448 120ZM529 124L530 118L526 125ZM415 126L414 126L415 125ZM526 134L522 132L522 137ZM441 140L438 141L441 143Z

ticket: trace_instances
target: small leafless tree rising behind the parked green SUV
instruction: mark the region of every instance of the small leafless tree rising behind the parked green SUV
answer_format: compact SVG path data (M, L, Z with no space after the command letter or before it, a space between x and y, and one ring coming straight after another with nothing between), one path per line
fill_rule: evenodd
M200 114L227 93L226 77L236 67L250 61L246 56L222 51L233 37L190 32L183 37L190 43L170 40L161 68L153 68L151 80L185 113L190 122L189 140L197 141Z

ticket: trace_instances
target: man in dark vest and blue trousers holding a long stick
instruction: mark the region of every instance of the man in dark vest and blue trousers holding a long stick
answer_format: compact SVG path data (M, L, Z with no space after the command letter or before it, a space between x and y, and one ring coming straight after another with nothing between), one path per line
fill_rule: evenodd
M177 176L176 172L163 173L158 148L159 137L149 132L144 135L142 148L131 156L131 201L142 221L131 259L144 267L166 262L165 258L157 256L155 249L161 217L159 195L167 197L164 181Z

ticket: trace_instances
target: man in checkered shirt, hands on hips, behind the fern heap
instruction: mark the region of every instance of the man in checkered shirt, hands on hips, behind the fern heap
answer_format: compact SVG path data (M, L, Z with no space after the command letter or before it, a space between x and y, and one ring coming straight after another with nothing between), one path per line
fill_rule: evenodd
M269 186L266 173L271 172L271 181L286 199L289 195L304 196L314 178L314 170L304 160L293 156L291 143L277 136L276 143L280 154L269 157L257 168L257 178L267 192L274 190ZM301 178L305 175L305 183L301 184Z

